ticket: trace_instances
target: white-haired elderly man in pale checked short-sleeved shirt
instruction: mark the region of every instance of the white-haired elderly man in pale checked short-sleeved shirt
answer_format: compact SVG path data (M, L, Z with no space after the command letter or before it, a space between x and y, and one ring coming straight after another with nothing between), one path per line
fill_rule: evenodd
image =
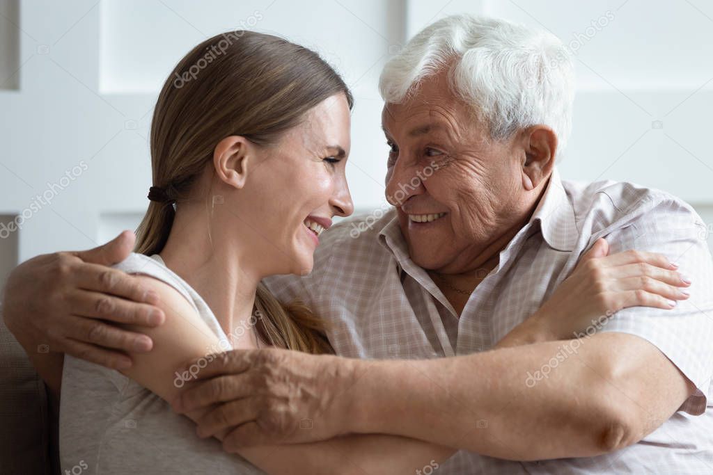
M505 21L453 16L415 36L380 84L394 207L325 231L311 275L268 282L326 318L337 354L353 358L235 351L202 368L206 382L175 408L216 404L201 429L236 428L229 449L347 432L461 449L423 473L711 473L704 226L662 192L560 180L572 68L556 38ZM582 339L492 350L600 237L612 253L677 262L692 281L689 300L627 308ZM107 251L78 256L121 259ZM35 290L61 296L79 286L43 278L43 266L62 259L19 268L6 311L20 313ZM82 266L96 264L71 263ZM28 276L35 288L20 291ZM571 298L589 290L572 286ZM50 313L46 300L29 320ZM114 348L135 341L111 336ZM254 395L261 405L251 413Z

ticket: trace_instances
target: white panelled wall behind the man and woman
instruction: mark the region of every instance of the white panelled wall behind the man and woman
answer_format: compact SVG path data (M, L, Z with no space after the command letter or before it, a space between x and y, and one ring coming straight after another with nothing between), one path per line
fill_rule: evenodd
M190 48L222 31L279 34L336 66L356 97L352 196L359 210L381 206L381 66L405 38L458 12L547 28L576 50L565 179L665 189L713 224L712 1L0 0L0 278L36 254L135 227L158 90Z

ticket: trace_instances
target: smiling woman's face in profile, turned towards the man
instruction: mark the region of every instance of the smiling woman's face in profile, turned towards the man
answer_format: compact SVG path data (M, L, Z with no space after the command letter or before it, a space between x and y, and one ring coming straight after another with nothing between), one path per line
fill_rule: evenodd
M334 95L310 110L277 144L255 147L240 203L238 228L252 226L250 249L265 275L312 271L319 234L354 204L344 174L349 105ZM241 232L241 234L243 234Z

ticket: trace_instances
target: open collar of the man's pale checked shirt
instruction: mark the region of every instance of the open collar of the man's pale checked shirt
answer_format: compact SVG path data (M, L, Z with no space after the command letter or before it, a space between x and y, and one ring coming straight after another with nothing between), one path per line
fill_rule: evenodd
M396 209L393 211L393 218L379 232L379 243L391 251L399 263L402 263L404 259L409 259L409 250L404 235L401 234L399 215ZM563 187L556 167L550 175L550 182L542 199L525 228L529 229L535 224L540 224L543 239L552 249L573 251L579 231L572 202Z

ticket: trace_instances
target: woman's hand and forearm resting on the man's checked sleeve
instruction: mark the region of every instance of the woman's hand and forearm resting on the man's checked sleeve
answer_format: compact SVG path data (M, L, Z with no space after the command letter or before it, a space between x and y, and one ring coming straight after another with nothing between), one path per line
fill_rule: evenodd
M609 318L622 308L671 309L688 298L685 288L690 281L665 256L640 251L607 254L607 241L598 239L553 296L513 328L497 348L570 340L593 326L596 329L600 318Z

